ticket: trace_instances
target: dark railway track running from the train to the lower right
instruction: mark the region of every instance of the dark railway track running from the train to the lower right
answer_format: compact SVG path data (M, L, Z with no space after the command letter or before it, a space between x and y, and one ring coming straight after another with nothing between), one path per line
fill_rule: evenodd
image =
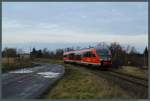
M106 79L109 83L117 84L132 96L138 98L148 98L148 80L117 73L112 70L102 71L100 69L92 69L86 66L77 66L84 68L89 72Z

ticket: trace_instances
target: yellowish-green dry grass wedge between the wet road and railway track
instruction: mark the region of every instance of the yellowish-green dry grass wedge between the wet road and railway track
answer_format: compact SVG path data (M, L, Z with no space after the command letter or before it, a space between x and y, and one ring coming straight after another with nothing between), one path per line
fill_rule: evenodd
M85 69L64 64L65 76L48 92L50 99L134 98L118 85L97 77Z

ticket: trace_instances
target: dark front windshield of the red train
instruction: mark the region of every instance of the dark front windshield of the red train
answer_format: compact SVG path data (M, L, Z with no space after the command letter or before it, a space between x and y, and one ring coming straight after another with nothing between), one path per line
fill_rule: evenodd
M101 57L102 60L111 60L111 54L109 50L99 49L96 50L96 52Z

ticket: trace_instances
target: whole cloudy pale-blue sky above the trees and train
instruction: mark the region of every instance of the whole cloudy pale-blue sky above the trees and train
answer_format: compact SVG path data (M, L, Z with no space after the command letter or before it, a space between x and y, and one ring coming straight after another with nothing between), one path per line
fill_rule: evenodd
M147 2L3 2L2 47L148 45Z

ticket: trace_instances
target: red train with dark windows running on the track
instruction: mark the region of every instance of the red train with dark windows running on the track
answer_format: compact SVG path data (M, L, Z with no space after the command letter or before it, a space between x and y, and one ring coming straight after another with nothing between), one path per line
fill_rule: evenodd
M88 48L64 52L63 56L65 63L78 63L102 67L110 67L112 65L111 52L109 49Z

